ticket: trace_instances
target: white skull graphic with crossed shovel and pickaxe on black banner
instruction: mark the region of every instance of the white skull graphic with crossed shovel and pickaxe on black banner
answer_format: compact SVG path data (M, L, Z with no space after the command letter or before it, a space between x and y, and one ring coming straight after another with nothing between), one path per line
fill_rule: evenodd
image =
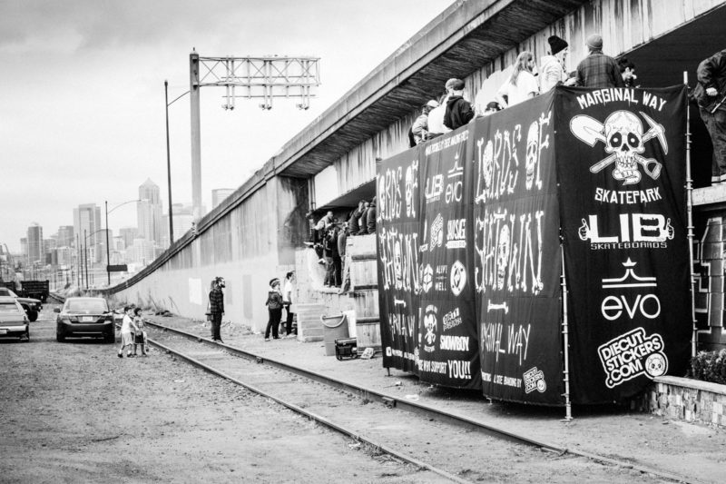
M643 157L645 143L658 138L663 153L668 154L668 142L665 139L665 130L662 124L640 114L650 125L650 129L643 133L643 123L630 111L615 111L600 123L591 116L581 114L574 116L570 121L570 131L580 141L594 146L602 141L605 144L605 153L609 153L598 163L590 167L591 173L599 173L606 166L615 163L613 178L622 181L623 185L632 185L641 181L640 164L643 171L653 180L661 175L662 164L652 158Z

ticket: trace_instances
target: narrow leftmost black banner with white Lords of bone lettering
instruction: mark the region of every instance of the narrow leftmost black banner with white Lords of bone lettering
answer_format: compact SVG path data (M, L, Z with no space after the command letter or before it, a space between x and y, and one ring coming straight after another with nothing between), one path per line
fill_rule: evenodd
M378 310L383 366L417 371L420 303L418 150L378 167Z

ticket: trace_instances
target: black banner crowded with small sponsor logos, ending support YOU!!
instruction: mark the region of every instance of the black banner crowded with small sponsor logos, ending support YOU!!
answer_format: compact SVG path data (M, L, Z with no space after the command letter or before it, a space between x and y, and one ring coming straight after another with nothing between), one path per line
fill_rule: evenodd
M422 145L421 324L418 375L481 388L470 247L471 125Z

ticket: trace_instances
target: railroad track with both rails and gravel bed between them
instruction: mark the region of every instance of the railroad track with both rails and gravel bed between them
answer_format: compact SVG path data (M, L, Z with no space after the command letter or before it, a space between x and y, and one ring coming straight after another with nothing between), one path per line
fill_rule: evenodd
M524 434L399 399L282 361L211 341L187 331L147 321L150 343L183 361L270 398L290 410L348 437L454 482L509 480L517 466L531 469L535 480L567 481L568 472L610 479L613 467L635 482L698 482L686 476L633 462L564 449ZM385 405L371 405L378 402ZM415 430L413 434L411 431ZM383 442L387 442L384 444ZM443 442L446 442L442 445ZM486 452L483 451L486 449ZM472 467L451 469L461 456ZM513 458L513 456L515 456ZM502 463L505 462L505 472ZM547 472L556 469L550 479ZM615 479L617 480L617 479Z

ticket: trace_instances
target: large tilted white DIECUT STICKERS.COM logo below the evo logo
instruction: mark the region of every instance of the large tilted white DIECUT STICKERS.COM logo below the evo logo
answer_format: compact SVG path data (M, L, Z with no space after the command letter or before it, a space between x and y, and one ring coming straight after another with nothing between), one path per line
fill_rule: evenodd
M607 388L615 388L641 375L653 379L665 374L668 359L662 352L664 346L660 334L646 336L643 328L635 328L601 345L597 352L607 375Z

